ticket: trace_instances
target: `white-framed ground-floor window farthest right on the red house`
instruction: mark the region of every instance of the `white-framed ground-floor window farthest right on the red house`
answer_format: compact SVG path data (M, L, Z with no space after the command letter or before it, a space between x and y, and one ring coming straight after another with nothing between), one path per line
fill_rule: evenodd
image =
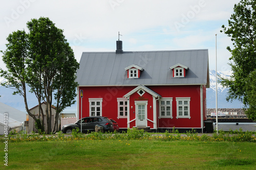
M181 102L181 104L179 104ZM178 118L191 118L190 117L190 98L176 98L177 103L177 119ZM182 107L179 110L179 107ZM179 115L179 112L182 112L182 115ZM187 115L184 115L187 112Z

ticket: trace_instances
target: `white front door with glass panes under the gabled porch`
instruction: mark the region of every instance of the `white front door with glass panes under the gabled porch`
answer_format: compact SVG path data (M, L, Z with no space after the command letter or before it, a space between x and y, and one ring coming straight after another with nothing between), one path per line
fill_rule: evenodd
M136 103L137 127L146 127L147 109L146 103Z

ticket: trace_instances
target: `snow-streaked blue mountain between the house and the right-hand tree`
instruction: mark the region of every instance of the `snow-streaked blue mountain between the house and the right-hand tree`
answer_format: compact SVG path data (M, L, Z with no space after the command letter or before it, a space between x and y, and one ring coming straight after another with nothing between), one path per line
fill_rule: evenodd
M210 75L210 88L206 89L206 100L207 100L207 108L216 108L216 71L209 70ZM217 71L217 79L219 80L219 76L222 78L231 79L232 71ZM228 88L223 87L219 82L217 83L217 91L218 91L218 108L241 108L243 107L240 101L232 101L227 102L227 92Z

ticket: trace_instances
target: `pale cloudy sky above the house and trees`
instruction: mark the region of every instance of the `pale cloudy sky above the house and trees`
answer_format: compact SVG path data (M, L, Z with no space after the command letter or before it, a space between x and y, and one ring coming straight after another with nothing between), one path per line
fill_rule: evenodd
M217 34L218 70L230 70L226 50L230 38L220 33L238 0L84 0L4 1L0 6L0 50L7 36L25 30L31 18L49 17L64 30L75 58L82 52L115 51L118 32L124 51L208 49L215 69ZM0 54L3 55L2 53ZM5 65L0 57L0 67Z

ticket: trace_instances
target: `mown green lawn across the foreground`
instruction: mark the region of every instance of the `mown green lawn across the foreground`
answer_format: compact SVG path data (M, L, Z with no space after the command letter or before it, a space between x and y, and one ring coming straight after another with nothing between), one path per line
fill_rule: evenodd
M67 140L1 142L0 169L256 169L255 142Z

